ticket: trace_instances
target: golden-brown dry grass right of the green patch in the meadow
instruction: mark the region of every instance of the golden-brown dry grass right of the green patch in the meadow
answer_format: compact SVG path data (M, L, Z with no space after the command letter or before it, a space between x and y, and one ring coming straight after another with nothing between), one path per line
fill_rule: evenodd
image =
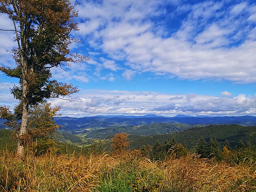
M165 188L178 191L249 191L256 189L255 165L230 166L197 157L170 159L161 165Z

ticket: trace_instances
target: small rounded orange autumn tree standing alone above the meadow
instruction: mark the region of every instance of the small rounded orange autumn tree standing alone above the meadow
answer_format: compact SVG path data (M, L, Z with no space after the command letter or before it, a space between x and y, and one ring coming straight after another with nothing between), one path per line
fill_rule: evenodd
M115 134L113 136L111 149L117 153L124 151L129 146L128 133Z

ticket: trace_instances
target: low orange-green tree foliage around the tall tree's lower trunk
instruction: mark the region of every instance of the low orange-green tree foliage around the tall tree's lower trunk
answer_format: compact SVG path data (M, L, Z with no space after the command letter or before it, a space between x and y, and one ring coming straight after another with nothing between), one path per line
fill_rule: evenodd
M17 109L17 108L16 108ZM53 140L58 125L54 123L53 118L58 116L57 112L60 110L60 106L55 108L50 107L50 103L44 102L43 104L32 105L29 108L28 115L28 131L27 134L19 137L19 117L17 112L11 112L7 107L0 107L0 118L6 119L4 123L9 127L15 127L12 138L20 139L22 145L30 145L30 149L33 148L37 155L47 151L55 145ZM34 144L32 146L32 144Z

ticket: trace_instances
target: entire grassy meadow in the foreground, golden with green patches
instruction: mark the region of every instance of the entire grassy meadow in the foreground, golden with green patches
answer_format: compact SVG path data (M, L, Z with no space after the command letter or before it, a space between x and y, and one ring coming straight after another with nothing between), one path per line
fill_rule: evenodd
M196 155L151 162L139 151L24 158L1 151L0 191L253 192L256 166L231 166Z

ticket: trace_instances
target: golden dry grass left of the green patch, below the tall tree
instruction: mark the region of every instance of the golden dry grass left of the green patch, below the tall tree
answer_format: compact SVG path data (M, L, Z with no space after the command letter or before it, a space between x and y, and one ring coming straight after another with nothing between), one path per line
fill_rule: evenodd
M91 191L99 184L96 174L115 165L106 154L84 157L54 155L26 158L4 152L0 157L0 191Z

